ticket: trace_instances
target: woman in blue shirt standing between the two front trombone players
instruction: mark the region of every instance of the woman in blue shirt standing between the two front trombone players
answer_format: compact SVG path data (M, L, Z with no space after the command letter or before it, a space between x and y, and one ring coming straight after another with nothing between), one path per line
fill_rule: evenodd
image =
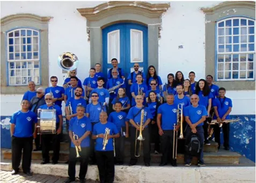
M149 99L147 103L147 107L149 108L153 119L149 123L149 130L150 130L150 140L151 142L155 143L155 154L159 153L159 134L158 134L158 127L157 127L157 109L161 104L157 100L157 94L155 91L149 92Z

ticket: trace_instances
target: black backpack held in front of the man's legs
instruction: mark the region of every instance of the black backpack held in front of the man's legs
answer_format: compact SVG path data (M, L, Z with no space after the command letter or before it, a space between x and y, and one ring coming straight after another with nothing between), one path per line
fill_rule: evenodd
M191 156L200 156L201 151L202 145L200 144L199 138L193 134L189 144L187 145L187 153Z

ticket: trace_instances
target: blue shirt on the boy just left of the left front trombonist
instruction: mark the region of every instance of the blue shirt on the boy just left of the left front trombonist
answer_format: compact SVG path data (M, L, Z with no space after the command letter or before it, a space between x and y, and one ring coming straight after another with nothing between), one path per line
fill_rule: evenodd
M121 128L126 126L126 117L127 114L125 112L115 111L109 114L107 121L114 123L118 131L121 132Z

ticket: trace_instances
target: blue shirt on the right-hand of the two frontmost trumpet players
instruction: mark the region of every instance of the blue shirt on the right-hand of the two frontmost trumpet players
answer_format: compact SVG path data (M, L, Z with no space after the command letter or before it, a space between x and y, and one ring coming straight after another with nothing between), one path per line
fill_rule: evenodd
M99 134L105 134L105 129L110 129L109 135L115 135L118 134L118 129L112 122L107 122L106 124L102 124L101 122L97 123L93 127L93 135L99 135ZM104 151L103 149L103 138L96 138L96 145L95 150L96 151ZM105 151L113 151L113 138L108 139L108 143L106 145Z

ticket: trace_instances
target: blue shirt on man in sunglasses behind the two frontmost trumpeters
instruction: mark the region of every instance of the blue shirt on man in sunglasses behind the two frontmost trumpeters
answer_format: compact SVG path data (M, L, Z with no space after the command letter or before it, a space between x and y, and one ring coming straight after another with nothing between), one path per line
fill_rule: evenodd
M86 114L89 113L91 122L99 122L99 115L102 110L106 112L106 107L103 106L103 103L98 103L97 105L91 103L86 106Z

